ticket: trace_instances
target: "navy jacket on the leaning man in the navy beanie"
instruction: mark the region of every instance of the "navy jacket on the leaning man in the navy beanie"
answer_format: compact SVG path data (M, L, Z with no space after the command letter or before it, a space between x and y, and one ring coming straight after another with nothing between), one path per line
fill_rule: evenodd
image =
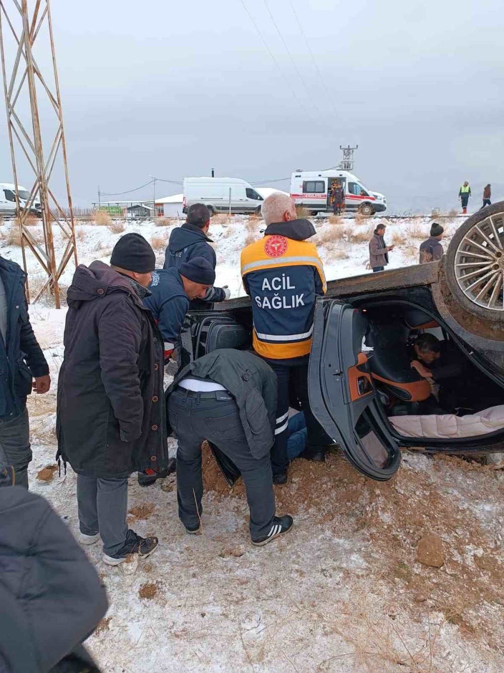
M163 334L166 355L167 351L173 351L179 340L180 326L189 308L189 297L185 294L177 269L154 271L149 290L151 294L144 298L144 306L151 310Z

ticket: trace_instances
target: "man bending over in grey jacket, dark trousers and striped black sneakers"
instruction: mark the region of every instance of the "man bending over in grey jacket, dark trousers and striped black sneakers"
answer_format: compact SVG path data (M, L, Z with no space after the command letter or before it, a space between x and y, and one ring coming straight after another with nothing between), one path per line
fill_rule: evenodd
M275 516L269 450L274 443L277 381L271 367L244 351L218 349L175 377L167 390L168 420L177 448L177 500L185 530L196 534L202 516L204 439L239 469L250 507L252 544L263 546L292 528Z

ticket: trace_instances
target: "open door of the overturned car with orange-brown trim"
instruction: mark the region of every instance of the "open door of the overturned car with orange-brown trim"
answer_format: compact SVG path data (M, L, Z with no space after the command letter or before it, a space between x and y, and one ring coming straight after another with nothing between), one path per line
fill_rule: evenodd
M310 409L345 458L365 476L386 481L401 464L362 351L365 314L319 297L308 374Z

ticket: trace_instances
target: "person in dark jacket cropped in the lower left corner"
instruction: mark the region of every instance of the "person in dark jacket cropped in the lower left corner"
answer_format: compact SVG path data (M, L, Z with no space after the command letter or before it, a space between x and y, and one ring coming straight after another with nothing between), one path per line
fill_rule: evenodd
M93 565L40 495L0 464L0 671L98 669L81 643L107 611Z

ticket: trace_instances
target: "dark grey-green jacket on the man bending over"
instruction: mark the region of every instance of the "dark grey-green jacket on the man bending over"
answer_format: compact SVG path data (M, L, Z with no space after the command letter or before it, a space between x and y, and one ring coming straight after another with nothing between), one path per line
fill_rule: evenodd
M175 376L169 395L185 376L209 379L224 386L235 398L254 458L267 456L275 441L277 378L257 355L223 348L190 362Z

